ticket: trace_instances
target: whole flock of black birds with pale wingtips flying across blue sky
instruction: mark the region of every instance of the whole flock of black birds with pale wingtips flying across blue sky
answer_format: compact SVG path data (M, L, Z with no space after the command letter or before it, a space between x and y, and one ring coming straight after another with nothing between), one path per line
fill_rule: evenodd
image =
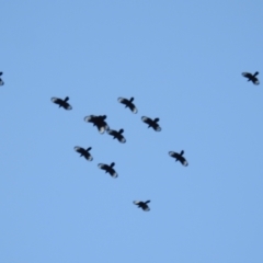
M256 76L259 75L259 72L254 72L254 73L249 73L249 72L243 72L242 76L244 78L248 79L248 81L251 81L254 84L260 84L259 79L256 78ZM2 72L0 72L0 77L2 76ZM0 78L0 85L3 85L4 82L2 81L2 79ZM57 104L59 107L64 107L65 110L72 110L72 106L69 104L69 98L66 96L64 100L59 99L59 98L52 98L52 102L54 102L55 104ZM125 98L118 98L118 102L124 104L125 107L128 107L133 113L137 113L138 110L134 104L134 98L125 99ZM114 129L110 129L110 126L106 123L106 115L90 115L84 117L84 122L87 123L91 123L93 124L93 126L96 126L100 134L104 134L105 132L111 135L113 137L113 139L117 139L119 142L125 144L126 139L123 135L124 129L119 129L119 130L114 130ZM148 128L152 128L156 132L161 132L161 127L158 124L158 122L160 121L159 118L150 118L150 117L146 117L142 116L141 121L144 123L146 123L148 125ZM84 157L88 161L92 161L93 157L90 153L90 150L92 148L89 147L87 149L76 146L75 150L80 153L80 157ZM169 151L169 156L174 158L175 161L180 161L184 167L188 165L188 162L186 161L186 159L183 157L184 151L182 150L180 153L179 152L174 152L174 151ZM112 178L117 178L118 174L114 169L115 163L112 162L111 164L105 164L105 163L99 163L98 167L101 170L104 170L105 173L110 173ZM141 208L145 211L149 211L150 208L148 206L148 204L150 203L150 201L134 201L134 204L138 206L138 208Z

